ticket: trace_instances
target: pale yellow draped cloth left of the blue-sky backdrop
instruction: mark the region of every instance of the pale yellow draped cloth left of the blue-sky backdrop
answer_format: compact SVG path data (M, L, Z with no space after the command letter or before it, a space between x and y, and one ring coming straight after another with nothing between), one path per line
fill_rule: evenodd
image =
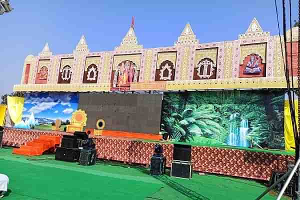
M22 112L24 106L24 97L7 96L8 112L13 123L18 123L22 120Z

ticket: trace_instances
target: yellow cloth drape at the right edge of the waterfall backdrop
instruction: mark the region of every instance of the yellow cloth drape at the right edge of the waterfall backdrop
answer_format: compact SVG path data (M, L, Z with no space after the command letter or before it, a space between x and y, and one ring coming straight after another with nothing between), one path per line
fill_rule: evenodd
M295 100L294 104L295 104L294 106L295 106L296 121L298 121L298 101ZM298 125L299 124L297 122L297 127ZM294 151L294 149L290 147L290 146L295 147L295 140L293 136L288 100L284 100L284 142L285 142L285 150Z

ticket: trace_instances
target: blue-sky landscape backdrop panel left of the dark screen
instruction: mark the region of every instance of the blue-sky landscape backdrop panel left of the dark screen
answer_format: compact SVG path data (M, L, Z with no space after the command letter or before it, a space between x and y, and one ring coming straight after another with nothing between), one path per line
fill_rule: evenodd
M22 119L25 125L36 129L51 129L51 123L60 119L62 124L70 121L72 112L78 107L76 92L31 92L24 94ZM32 116L35 124L32 126ZM33 122L34 123L34 122ZM23 124L16 124L23 125Z

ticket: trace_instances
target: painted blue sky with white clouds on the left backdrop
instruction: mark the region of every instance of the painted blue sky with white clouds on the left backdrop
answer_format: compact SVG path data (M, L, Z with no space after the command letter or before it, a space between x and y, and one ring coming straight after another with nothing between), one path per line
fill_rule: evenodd
M32 112L35 118L70 119L77 109L78 100L78 93L72 92L25 93L22 117L29 117Z

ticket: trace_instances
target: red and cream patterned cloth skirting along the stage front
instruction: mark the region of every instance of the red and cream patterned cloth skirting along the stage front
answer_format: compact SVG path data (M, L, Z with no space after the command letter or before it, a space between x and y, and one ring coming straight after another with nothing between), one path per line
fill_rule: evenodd
M25 130L4 128L3 144L19 146L38 138L39 135L68 134L60 131ZM95 136L97 157L127 163L149 164L154 142L128 138ZM167 166L170 167L173 145L162 144ZM272 171L286 171L290 155L255 152L240 149L193 146L193 170L245 178L269 180Z

